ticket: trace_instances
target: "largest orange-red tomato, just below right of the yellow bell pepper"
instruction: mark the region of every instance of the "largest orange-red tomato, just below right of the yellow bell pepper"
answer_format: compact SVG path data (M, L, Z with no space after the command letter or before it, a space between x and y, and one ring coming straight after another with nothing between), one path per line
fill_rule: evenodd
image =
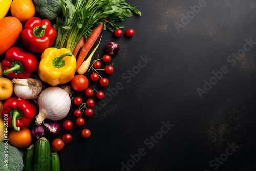
M87 89L88 79L84 75L76 75L71 80L71 86L75 91L81 92Z

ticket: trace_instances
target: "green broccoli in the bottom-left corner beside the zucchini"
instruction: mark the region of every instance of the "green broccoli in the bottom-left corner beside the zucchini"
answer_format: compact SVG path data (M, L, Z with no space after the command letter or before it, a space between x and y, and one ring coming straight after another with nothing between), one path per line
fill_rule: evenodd
M7 157L6 157L7 154ZM7 164L8 162L8 164ZM0 142L0 170L1 171L22 171L23 150L15 148L6 143Z

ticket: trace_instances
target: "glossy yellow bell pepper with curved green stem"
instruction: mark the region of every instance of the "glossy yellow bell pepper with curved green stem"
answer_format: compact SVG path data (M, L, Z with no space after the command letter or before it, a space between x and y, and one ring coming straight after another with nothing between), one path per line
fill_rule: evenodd
M76 72L76 58L66 48L47 48L41 56L38 74L42 81L51 86L72 80Z

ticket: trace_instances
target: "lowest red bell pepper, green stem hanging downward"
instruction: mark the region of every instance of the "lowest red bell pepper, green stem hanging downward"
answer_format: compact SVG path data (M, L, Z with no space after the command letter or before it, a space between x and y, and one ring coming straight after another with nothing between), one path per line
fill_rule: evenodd
M7 115L8 126L19 131L30 124L36 112L36 107L29 100L11 97L3 104L1 116Z

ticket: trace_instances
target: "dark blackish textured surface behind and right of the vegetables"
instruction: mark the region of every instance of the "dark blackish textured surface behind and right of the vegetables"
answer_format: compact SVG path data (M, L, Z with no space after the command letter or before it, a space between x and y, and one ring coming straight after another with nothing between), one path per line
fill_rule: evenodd
M146 155L130 170L216 170L209 162L223 156L228 143L238 148L217 170L256 170L256 45L233 67L227 62L246 38L256 42L256 1L205 1L206 6L180 31L175 22L181 23L182 15L199 1L126 2L142 13L120 23L124 32L132 28L135 35L115 38L102 32L95 59L105 54L109 41L117 41L120 52L111 61L114 73L106 76L109 86L102 89L89 83L105 93L117 82L123 89L102 110L85 117L84 126L62 132L73 140L59 152L61 170L119 171L140 148ZM122 74L138 65L140 56L152 60L126 82ZM222 66L229 72L200 98L196 89L203 89L204 79L209 81ZM87 99L83 92L74 92L76 96ZM75 109L72 104L64 120L75 123ZM175 126L148 148L144 141L168 120ZM80 135L84 128L92 132L88 139Z

